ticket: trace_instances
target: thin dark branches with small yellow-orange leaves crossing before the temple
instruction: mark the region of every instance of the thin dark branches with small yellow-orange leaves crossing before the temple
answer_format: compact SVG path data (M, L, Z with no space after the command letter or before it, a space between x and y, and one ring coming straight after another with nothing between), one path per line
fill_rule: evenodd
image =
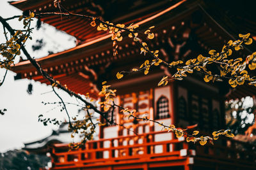
M61 8L61 6L58 6ZM67 10L64 10L67 11ZM192 134L189 134L184 129L175 128L174 125L164 125L161 124L155 120L150 120L147 117L136 117L134 113L136 111L129 111L127 108L123 108L122 106L116 105L113 102L113 98L116 97L116 90L109 89L109 85L104 85L106 82L102 83L102 90L99 95L104 96L104 101L100 102L100 107L103 108L100 110L95 106L92 102L84 99L84 97L80 96L79 94L76 94L72 90L68 89L67 86L61 85L59 81L56 81L52 76L50 76L46 71L42 69L40 64L36 62L31 55L27 52L26 48L24 47L24 43L26 43L26 40L28 38L31 38L29 35L31 33L30 23L33 20L33 17L39 17L44 15L59 15L61 17L81 17L85 20L90 20L90 25L92 27L97 26L98 31L108 31L109 34L111 34L111 40L113 41L113 48L114 53L113 55L117 55L117 47L118 47L118 41L122 41L123 39L123 32L127 32L127 36L129 38L133 38L133 41L137 43L137 45L140 47L141 54L146 55L149 54L152 57L152 60L145 60L141 66L136 69L132 69L132 71L120 71L116 74L116 77L118 79L122 78L124 76L124 73L133 73L136 71L144 71L144 74L148 74L148 71L150 67L152 66L159 66L160 64L163 64L164 66L167 66L168 68L174 68L176 69L176 73L172 75L172 77L164 76L161 81L159 81L158 85L167 85L168 81L170 80L182 80L187 74L191 74L194 71L200 71L200 73L204 74L204 80L206 82L209 81L221 81L221 78L228 78L229 83L232 87L236 87L236 85L242 85L244 81L248 82L250 85L255 85L256 80L254 77L250 77L248 74L248 71L246 71L246 66L250 70L253 70L256 68L256 59L255 55L256 53L253 53L252 55L246 57L246 59L228 59L230 55L232 55L232 50L241 50L243 48L243 45L250 45L252 43L252 38L250 38L250 34L242 35L239 34L239 37L241 39L237 41L228 41L227 45L223 46L223 49L221 52L216 52L216 50L210 50L209 56L204 57L203 55L198 55L195 59L187 60L186 62L183 62L182 60L173 61L171 63L168 63L164 60L161 60L159 58L159 50L150 50L147 43L143 41L142 38L139 37L139 25L131 24L129 26L126 26L124 24L113 24L108 21L100 20L100 18L91 17L87 15L80 15L76 13L71 13L67 11L66 13L56 13L56 12L48 12L48 13L30 13L28 17L24 16L14 16L11 18L2 18L0 17L0 22L3 24L4 28L6 28L12 38L6 43L1 44L1 54L6 59L1 61L0 66L8 68L10 67L10 64L13 64L13 59L16 55L20 55L20 50L24 52L27 59L35 66L36 70L44 76L45 79L47 79L52 87L58 87L59 89L67 92L70 96L76 97L76 99L79 99L79 101L83 102L84 104L84 111L86 111L86 115L83 120L76 120L74 124L72 124L72 130L73 133L79 133L82 132L84 134L84 139L82 143L85 141L92 139L92 134L95 131L96 125L104 125L99 120L97 123L94 123L92 121L92 114L89 110L95 111L95 113L99 113L99 115L104 118L109 124L115 124L125 127L122 124L116 124L113 120L113 112L116 110L116 108L122 108L125 112L130 113L129 117L132 117L136 120L143 120L143 121L149 121L154 122L155 124L159 124L163 126L164 129L167 129L170 132L175 132L177 138L180 138L181 136L186 136L187 141L199 141L201 145L205 145L207 141L212 141L214 139L218 139L219 136L225 135L229 138L234 137L232 133L230 133L229 130L220 130L216 132L212 132L212 136L201 136L198 137L198 131L194 131ZM6 20L11 20L13 18L19 17L19 20L23 20L24 29L26 29L25 33L24 31L16 31L10 27L10 25L6 22ZM154 39L154 32L152 30L154 29L154 26L149 27L144 34L147 35L148 39ZM207 69L207 66L210 64L217 64L221 67L220 74L212 74L211 71ZM54 90L54 89L53 89ZM56 94L58 96L58 94ZM60 99L61 97L58 96ZM88 96L89 97L89 96ZM65 102L61 99L61 103L65 107ZM68 112L66 110L66 113L68 115ZM111 114L111 120L108 118L108 114ZM73 118L75 119L75 118ZM71 120L69 120L71 124ZM90 131L87 131L87 130ZM73 134L72 134L73 135ZM76 145L78 146L78 145Z

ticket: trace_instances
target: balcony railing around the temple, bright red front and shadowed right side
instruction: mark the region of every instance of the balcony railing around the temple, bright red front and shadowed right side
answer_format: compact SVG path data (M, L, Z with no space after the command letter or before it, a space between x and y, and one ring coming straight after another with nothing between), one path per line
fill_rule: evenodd
M166 131L150 132L134 136L88 141L84 148L68 151L67 144L56 144L52 150L52 169L72 167L108 166L143 162L180 162L191 164L189 157L215 161L241 162L255 165L255 146L234 140L221 139L215 145L186 143L184 138L159 141ZM156 138L158 138L156 140ZM213 158L213 159L212 159Z

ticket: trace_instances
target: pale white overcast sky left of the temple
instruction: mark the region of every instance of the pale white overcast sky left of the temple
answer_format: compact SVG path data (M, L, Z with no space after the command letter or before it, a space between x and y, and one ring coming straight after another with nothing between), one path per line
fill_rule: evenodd
M3 18L12 17L13 15L21 15L22 12L7 3L7 0L0 1L0 15ZM36 23L36 21L34 21ZM22 25L18 20L9 22L12 27L16 29ZM44 31L45 29L45 31ZM48 50L53 52L60 52L62 50L72 48L75 46L75 39L61 31L56 31L54 27L45 25L39 31L36 29L32 34L33 40L26 43L26 48L35 58L47 55ZM44 37L47 40L44 50L40 52L33 52L31 45L35 43L36 39ZM5 38L3 36L3 27L0 26L0 43L3 43ZM3 80L4 69L0 69L0 81ZM0 152L21 148L23 143L32 142L42 139L51 134L51 126L45 127L42 122L37 122L38 115L43 114L45 117L56 117L59 120L64 120L65 112L60 112L60 108L44 114L47 110L51 110L53 106L44 106L41 102L60 101L58 97L51 91L51 87L47 87L39 82L30 80L16 80L13 76L15 73L8 71L4 84L0 87L0 109L6 108L6 114L0 115ZM26 92L28 84L33 84L33 94L28 95ZM67 94L59 92L65 101L72 101ZM77 113L77 108L68 108L72 114ZM56 129L56 127L53 127Z

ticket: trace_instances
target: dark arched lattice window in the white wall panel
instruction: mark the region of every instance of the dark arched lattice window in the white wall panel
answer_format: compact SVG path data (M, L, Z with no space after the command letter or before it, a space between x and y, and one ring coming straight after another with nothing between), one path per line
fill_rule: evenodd
M156 118L169 118L169 104L168 99L164 96L160 97L157 101Z

